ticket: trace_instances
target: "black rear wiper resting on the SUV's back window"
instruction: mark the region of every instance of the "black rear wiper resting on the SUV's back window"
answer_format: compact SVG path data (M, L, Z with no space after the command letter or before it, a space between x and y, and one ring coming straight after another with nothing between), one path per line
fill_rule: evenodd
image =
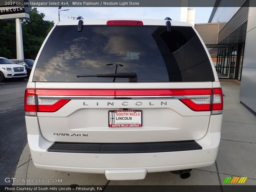
M97 75L78 75L77 77L114 77L113 82L116 78L129 78L129 82L137 82L138 78L136 73L108 73L108 74L97 74Z

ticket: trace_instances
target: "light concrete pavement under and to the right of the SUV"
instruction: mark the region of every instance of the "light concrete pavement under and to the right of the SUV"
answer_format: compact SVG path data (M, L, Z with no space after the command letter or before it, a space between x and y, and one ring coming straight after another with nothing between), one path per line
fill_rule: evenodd
M256 185L256 117L239 103L240 85L221 82L224 111L219 153L215 164L193 169L191 177L182 180L171 172L148 173L144 180L109 181L103 174L59 172L37 169L28 145L24 148L15 177L19 179L61 179L60 185L222 185L225 177L248 177L245 184ZM56 183L17 183L14 185L51 185ZM224 184L223 184L224 185ZM227 184L225 184L227 185ZM230 184L232 185L232 184ZM106 188L107 189L107 188Z

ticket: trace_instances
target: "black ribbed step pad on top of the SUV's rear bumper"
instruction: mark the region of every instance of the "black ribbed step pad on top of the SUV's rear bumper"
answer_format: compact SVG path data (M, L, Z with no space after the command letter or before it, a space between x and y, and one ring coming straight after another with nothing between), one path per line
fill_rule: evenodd
M145 143L73 143L54 142L47 151L62 153L160 153L173 151L200 150L194 140L145 142Z

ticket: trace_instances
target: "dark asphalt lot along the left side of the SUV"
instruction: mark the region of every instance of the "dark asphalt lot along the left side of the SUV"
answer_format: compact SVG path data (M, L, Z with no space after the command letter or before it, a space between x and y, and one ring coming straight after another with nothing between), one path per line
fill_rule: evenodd
M28 79L0 83L0 185L14 177L20 154L27 141L24 93Z

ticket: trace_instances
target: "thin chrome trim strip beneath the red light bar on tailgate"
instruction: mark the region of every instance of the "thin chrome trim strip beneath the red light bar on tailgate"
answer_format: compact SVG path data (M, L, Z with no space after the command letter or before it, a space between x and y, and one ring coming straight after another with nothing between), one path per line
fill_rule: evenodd
M184 95L184 96L48 96L38 95L39 99L209 99L210 95Z

